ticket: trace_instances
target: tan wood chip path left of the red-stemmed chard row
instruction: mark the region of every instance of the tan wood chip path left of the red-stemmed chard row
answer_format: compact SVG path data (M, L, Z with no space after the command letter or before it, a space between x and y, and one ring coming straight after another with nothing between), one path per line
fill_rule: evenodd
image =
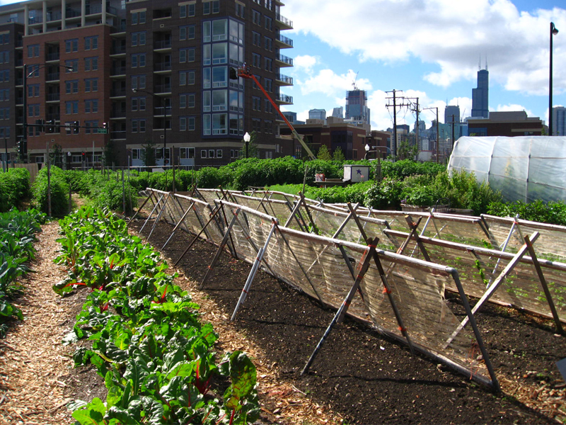
M52 285L64 271L52 263L57 249L59 224L42 226L35 244L37 254L24 280L24 295L15 304L25 320L16 322L0 340L0 423L72 424L65 408L64 376L72 361L61 340L72 324L68 300L55 294Z

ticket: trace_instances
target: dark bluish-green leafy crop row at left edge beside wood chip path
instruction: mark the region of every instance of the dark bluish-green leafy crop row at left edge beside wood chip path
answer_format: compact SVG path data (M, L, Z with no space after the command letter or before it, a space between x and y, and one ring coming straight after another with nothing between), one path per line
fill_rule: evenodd
M45 215L37 210L0 213L0 337L6 335L8 319L23 319L11 300L23 289L18 278L30 271L28 261L35 255L35 233L44 220Z

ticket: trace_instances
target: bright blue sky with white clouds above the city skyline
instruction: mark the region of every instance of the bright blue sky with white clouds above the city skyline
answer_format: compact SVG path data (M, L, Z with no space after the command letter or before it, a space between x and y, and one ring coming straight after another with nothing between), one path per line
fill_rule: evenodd
M294 86L286 111L308 118L311 108L345 106L354 79L368 92L371 127L393 125L386 91L419 98L421 108L446 104L469 116L480 66L490 72L490 111L526 111L548 124L550 22L553 38L553 105L566 106L566 9L564 1L527 0L285 0L281 13L294 23L284 35L294 58L282 74ZM422 111L427 127L434 111ZM415 123L401 108L398 123Z

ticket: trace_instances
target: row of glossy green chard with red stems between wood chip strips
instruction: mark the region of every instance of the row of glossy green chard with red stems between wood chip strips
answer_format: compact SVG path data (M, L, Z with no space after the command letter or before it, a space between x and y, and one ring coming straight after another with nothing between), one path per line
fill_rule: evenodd
M91 289L66 344L81 339L76 365L105 378L106 402L74 402L80 424L248 424L259 416L255 367L235 351L216 364L216 334L198 305L166 273L167 264L108 212L82 208L60 220L68 276L63 295ZM213 382L226 382L222 397ZM224 387L224 386L223 386ZM219 400L221 398L222 402Z

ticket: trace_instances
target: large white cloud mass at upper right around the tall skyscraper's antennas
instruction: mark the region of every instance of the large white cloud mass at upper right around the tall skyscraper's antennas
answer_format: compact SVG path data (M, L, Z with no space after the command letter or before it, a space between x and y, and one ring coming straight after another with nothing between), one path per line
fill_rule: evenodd
M438 71L422 78L447 87L473 80L477 59L507 90L543 94L548 86L548 25L566 32L566 10L519 12L510 0L293 0L294 31L311 33L360 61L416 58ZM329 25L332 23L332 25ZM566 37L554 39L556 93L566 91ZM483 64L482 64L483 66Z

